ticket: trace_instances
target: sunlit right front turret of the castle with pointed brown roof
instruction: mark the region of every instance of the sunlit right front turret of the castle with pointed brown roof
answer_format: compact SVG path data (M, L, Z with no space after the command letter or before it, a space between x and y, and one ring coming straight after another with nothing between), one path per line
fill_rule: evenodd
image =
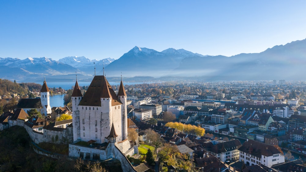
M119 86L119 90L118 90L118 98L122 103L122 140L127 139L128 137L128 119L127 119L127 111L126 111L126 92L122 83L122 79L121 79L121 83Z

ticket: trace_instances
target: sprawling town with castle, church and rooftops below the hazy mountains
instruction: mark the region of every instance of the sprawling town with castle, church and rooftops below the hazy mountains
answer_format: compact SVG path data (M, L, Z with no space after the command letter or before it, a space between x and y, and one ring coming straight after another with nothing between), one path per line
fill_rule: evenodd
M0 79L0 130L21 126L37 154L73 171L306 172L304 81L47 85ZM56 94L64 107L50 106Z

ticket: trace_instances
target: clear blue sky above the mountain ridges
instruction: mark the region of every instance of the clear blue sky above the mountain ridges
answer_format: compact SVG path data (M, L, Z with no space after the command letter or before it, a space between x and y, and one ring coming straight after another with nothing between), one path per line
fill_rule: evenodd
M259 53L306 38L306 1L0 1L0 57L120 58L134 46Z

